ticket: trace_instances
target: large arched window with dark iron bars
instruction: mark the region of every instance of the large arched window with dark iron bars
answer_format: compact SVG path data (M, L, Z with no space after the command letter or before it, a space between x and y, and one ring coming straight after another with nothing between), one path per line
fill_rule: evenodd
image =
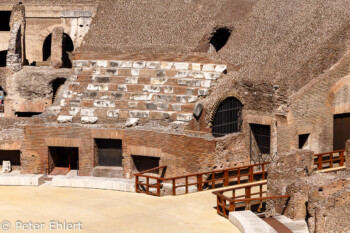
M222 137L241 130L242 103L234 98L225 99L218 107L213 121L213 136Z

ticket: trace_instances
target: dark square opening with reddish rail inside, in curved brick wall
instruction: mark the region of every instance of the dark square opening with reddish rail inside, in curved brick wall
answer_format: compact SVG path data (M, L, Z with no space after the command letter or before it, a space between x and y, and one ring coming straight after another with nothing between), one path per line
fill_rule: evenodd
M78 170L79 149L77 147L49 147L50 175L66 175L70 170Z

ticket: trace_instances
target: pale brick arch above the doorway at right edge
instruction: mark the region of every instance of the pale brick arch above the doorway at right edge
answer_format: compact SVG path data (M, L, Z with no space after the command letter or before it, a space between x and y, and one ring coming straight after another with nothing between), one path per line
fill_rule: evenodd
M326 98L326 106L332 108L332 112L334 114L341 114L341 113L348 113L350 112L350 103L347 104L348 106L344 105L343 109L336 109L335 106L333 106L333 101L335 96L337 95L338 91L343 88L345 85L350 86L350 75L347 75L341 79L339 79L329 90L327 98ZM347 110L346 110L347 109Z

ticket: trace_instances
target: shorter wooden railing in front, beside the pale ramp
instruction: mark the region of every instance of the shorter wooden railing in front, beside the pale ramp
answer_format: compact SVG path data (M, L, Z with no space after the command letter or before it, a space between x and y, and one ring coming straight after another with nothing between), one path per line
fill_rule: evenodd
M265 181L258 184L249 184L214 191L213 194L215 194L217 197L217 213L225 218L228 218L230 212L242 208L245 210L252 210L252 206L256 208L253 210L254 212L261 212L264 207L263 204L266 203L266 200L290 197L289 195L266 197L266 184L267 182ZM237 195L240 191L244 191L244 194ZM231 193L231 195L224 195L226 192Z

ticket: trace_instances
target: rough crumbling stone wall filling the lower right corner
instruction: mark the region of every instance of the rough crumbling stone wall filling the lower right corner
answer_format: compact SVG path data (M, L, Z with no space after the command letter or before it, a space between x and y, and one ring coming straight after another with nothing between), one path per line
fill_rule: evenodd
M350 176L314 173L313 153L298 150L273 161L268 168L267 196L290 199L267 202L267 215L306 220L310 232L347 232Z

